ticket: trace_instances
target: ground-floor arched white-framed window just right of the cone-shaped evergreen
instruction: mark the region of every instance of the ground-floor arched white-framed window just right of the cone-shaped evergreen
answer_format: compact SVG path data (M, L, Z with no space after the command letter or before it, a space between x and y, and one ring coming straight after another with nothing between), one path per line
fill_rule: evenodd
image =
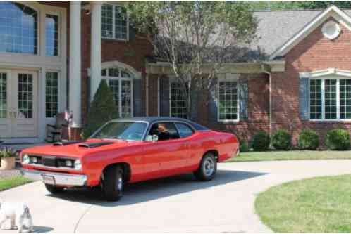
M133 116L133 76L128 70L119 67L104 68L101 76L113 91L120 117Z

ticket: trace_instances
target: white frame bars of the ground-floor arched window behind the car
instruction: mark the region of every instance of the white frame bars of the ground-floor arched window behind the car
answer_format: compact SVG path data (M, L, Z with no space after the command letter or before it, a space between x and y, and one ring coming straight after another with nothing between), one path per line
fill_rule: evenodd
M117 68L118 69L118 77L110 77L108 75L102 76L102 79L105 79L107 82L107 85L109 85L110 80L118 80L118 115L119 117L122 117L122 96L121 96L121 91L122 91L122 81L129 81L130 82L130 117L134 117L134 98L133 98L133 77L121 77L121 67L105 67L102 70L106 69L106 74L109 72L109 68ZM131 72L129 72L131 73Z

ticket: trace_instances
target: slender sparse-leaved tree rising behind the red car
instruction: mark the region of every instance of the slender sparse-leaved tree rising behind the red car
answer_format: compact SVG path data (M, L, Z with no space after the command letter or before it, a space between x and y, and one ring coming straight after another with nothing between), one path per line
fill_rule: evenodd
M245 1L132 1L130 22L169 63L183 88L187 117L225 63L238 61L254 39L257 20Z

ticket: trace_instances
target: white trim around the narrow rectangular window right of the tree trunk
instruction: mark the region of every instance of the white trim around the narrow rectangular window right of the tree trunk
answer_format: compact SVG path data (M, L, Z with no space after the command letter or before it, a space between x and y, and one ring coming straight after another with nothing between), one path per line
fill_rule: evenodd
M220 119L220 113L219 113L219 83L220 82L237 82L237 119ZM217 102L218 102L218 108L217 108L217 122L223 123L223 124L238 124L240 122L240 103L239 103L239 74L220 74L218 75L218 81L217 81Z

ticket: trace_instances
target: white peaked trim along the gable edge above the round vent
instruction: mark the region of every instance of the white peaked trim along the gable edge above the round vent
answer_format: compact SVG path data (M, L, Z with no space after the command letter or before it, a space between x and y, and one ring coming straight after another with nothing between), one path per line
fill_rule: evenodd
M315 30L319 25L325 22L328 18L332 17L340 25L345 26L348 30L351 31L351 18L341 11L336 6L329 6L325 11L317 15L314 20L309 22L302 30L297 32L292 38L285 42L281 47L279 47L271 55L270 59L285 56L288 51L290 51L294 46L296 46L302 39L307 37L313 30Z

